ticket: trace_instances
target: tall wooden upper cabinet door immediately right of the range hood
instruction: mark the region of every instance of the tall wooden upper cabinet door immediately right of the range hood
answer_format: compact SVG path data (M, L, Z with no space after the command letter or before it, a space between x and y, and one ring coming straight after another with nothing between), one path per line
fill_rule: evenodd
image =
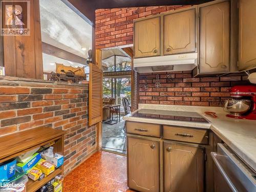
M252 0L253 1L253 0ZM200 73L230 68L230 3L203 4L200 11Z

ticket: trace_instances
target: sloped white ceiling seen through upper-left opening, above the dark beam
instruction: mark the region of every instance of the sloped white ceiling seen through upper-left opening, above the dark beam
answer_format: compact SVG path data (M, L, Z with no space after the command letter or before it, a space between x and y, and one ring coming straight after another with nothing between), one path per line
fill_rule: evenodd
M92 26L61 0L40 0L40 19L43 42L88 57L87 52L92 49Z

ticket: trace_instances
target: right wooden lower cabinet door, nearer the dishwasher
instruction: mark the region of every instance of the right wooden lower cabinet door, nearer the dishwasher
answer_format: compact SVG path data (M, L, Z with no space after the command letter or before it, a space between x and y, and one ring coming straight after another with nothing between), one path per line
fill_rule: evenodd
M164 142L164 191L204 191L204 148Z

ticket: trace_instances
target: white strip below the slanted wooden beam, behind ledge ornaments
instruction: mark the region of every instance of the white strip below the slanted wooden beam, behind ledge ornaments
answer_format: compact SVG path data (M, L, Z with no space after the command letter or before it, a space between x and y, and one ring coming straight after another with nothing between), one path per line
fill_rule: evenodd
M65 59L61 59L58 57L54 57L52 55L48 55L43 53L42 54L42 61L44 63L44 72L47 73L51 73L51 72L55 72L56 70L56 65L55 62L57 63L62 63L65 66L72 66L72 67L84 67L86 73L89 73L89 67L88 66L84 66L82 64L76 63L76 62L71 62Z

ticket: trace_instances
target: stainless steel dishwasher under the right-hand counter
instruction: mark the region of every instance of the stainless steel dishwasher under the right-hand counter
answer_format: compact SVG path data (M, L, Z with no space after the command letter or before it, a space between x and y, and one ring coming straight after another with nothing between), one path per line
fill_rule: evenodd
M211 157L215 162L215 192L256 191L256 173L226 144L218 143L217 153L211 152Z

